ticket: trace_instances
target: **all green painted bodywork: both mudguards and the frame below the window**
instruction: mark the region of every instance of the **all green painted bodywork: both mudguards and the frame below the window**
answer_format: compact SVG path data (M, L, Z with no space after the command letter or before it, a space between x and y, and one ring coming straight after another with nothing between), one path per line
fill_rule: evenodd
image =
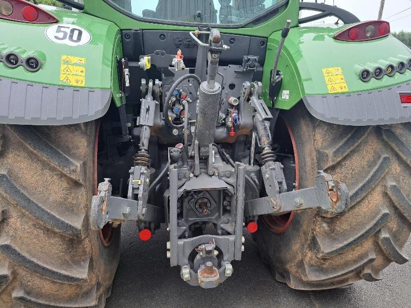
M281 54L278 69L284 74L280 95L274 106L290 109L301 101L305 95L329 94L323 75L323 68L341 67L350 92L361 92L390 87L411 80L411 71L396 73L393 77L384 76L382 80L372 79L364 83L359 78L359 68L372 68L375 63L393 62L399 55L411 57L411 51L392 35L369 42L341 42L333 35L342 27L298 27L299 1L290 0L287 6L279 10L271 20L243 28L221 28L222 33L240 34L268 38L267 56L263 65L263 98L268 105L270 71L273 66L276 48L281 38L281 29L287 19L292 20L290 34ZM117 59L122 56L121 29L142 30L194 30L195 27L161 25L147 23L126 16L118 9L109 6L102 0L86 0L82 13L68 10L50 10L60 23L75 24L87 29L92 40L79 47L54 44L44 34L49 25L36 25L0 20L2 36L0 52L20 49L24 56L36 51L44 58L40 71L30 73L23 67L7 68L0 64L0 76L30 81L46 85L67 86L60 81L61 55L72 55L86 58L86 88L111 89L117 106L125 102L119 90ZM26 33L27 35L15 35ZM1 44L6 44L2 46ZM396 64L396 63L393 63ZM289 90L289 99L282 99L282 90Z

